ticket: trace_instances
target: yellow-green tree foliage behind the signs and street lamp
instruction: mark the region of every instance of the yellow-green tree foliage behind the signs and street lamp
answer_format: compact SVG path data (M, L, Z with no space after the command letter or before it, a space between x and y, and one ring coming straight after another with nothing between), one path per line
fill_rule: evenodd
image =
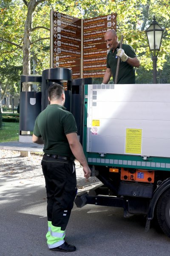
M148 74L153 64L144 30L155 15L164 29L157 61L159 81L170 81L169 0L1 0L1 69L11 70L9 67L13 65L19 71L22 66L23 74L31 74L49 68L50 9L79 18L116 13L119 39L123 34L124 43L130 44L140 59L141 68L137 71L140 83L146 82L147 77L152 82ZM4 81L1 81L1 86Z

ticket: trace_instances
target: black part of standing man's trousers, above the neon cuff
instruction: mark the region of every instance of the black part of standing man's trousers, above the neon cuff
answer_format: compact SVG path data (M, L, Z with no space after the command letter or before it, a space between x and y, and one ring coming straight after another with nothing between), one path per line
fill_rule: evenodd
M41 165L47 192L48 221L65 230L77 193L75 164L44 155Z

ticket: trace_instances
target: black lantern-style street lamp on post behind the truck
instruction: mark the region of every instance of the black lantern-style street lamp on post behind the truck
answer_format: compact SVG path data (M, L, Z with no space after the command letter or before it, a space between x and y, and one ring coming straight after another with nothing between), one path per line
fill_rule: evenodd
M146 29L147 41L149 44L149 49L152 52L152 61L153 61L153 84L156 84L156 62L158 51L160 51L161 40L164 29L162 29L159 23L156 21L155 16L153 16L153 22Z

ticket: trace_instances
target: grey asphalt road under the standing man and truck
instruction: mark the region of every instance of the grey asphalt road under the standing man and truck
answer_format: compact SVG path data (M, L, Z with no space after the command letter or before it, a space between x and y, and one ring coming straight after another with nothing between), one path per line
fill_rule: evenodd
M144 219L123 217L120 208L74 206L66 241L74 256L170 256L170 239L151 227L144 233ZM45 186L37 179L0 176L0 256L54 256L47 232Z

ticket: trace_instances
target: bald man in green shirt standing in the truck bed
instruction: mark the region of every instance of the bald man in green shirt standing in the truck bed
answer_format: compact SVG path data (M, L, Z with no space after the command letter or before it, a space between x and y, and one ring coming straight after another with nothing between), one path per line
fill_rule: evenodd
M113 29L105 33L105 42L110 48L107 56L107 69L103 77L103 84L107 84L113 76L113 81L116 75L116 67L118 57L121 58L119 65L118 84L135 84L135 68L139 67L140 62L133 50L128 44L123 44L122 49L119 49L119 41L116 31Z

